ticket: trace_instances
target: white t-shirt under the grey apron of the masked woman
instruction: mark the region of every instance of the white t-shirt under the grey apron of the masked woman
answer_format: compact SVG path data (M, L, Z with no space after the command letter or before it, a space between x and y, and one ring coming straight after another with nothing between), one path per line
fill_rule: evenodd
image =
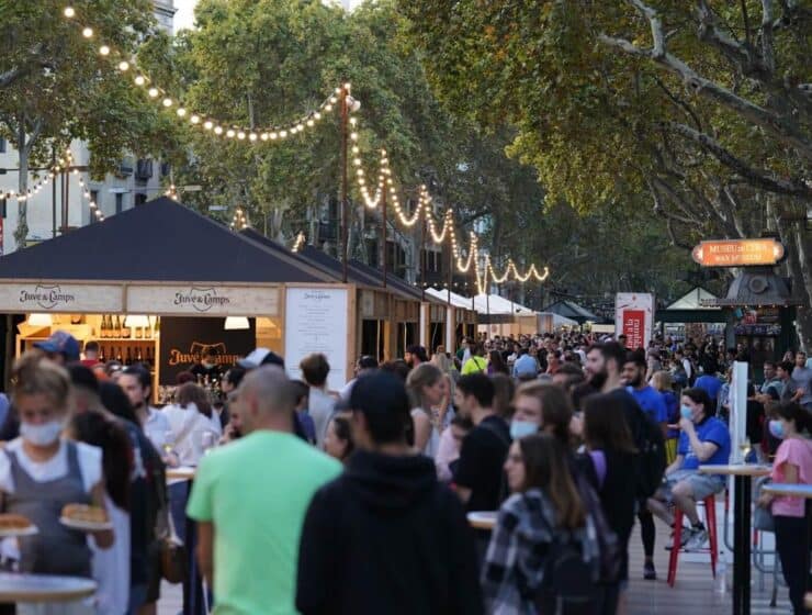
M79 470L82 474L84 491L90 493L93 487L102 480L102 451L101 448L84 443L75 443ZM16 455L20 466L36 482L57 480L68 473L68 448L65 440L60 441L59 450L54 457L45 462L31 459L23 450L22 438L11 440L5 449ZM0 491L14 493L14 479L11 477L11 462L8 456L0 452Z

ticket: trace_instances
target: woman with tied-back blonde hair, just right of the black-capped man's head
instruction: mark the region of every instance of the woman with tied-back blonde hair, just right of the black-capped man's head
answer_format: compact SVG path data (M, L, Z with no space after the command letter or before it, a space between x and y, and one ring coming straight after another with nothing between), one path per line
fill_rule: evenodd
M415 449L433 459L440 444L441 414L447 410L441 407L448 400L447 378L436 366L420 364L409 372L406 388L414 405Z

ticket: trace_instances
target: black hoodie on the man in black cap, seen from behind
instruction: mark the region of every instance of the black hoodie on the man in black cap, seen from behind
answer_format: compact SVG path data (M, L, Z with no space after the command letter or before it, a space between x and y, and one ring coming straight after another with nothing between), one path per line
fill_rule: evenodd
M357 450L316 492L298 552L302 615L483 613L473 535L428 457Z

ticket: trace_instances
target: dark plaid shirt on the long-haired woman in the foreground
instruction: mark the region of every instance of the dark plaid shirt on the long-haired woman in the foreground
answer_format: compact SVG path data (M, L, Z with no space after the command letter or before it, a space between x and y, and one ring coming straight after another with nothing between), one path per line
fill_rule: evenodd
M482 571L485 611L492 615L537 615L534 599L544 559L554 540L555 511L540 489L511 495L499 510ZM575 538L590 552L586 532Z

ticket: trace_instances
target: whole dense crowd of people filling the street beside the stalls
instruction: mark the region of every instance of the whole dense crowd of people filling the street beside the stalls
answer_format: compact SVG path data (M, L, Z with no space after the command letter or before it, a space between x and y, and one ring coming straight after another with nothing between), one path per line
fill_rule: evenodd
M5 568L93 578L99 591L18 613L155 613L178 543L196 545L215 613L623 613L635 521L646 580L657 578L655 518L673 528L678 508L681 547L707 544L697 502L725 482L698 468L731 459L736 360L752 372L748 457L771 462L776 481L812 480L801 351L755 366L712 338L645 349L579 333L464 339L455 354L360 357L331 391L324 355L291 380L283 357L258 348L203 366L222 398L191 374L156 409L144 367L101 365L92 346L80 360L63 333L38 346L0 404L0 512L38 534L3 540L0 555ZM167 481L180 466L195 468L191 494ZM67 527L68 504L103 508L110 524ZM771 512L804 613L804 502L756 505ZM483 512L496 513L493 529L470 524Z

